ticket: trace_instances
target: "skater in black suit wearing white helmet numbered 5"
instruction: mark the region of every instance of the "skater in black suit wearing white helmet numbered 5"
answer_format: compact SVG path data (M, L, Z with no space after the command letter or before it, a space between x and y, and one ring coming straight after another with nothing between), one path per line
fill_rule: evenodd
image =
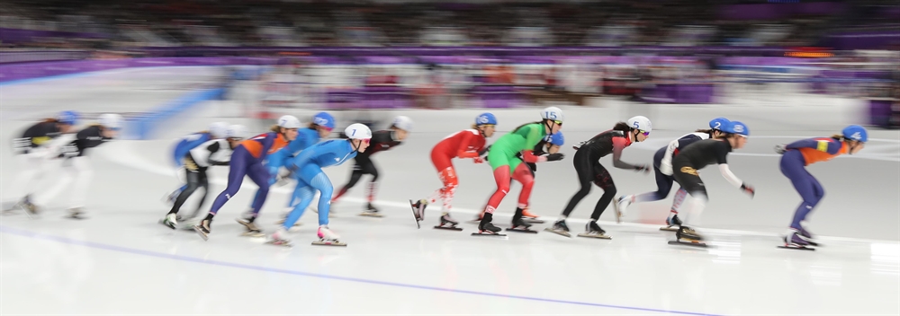
M597 201L597 206L594 206L594 213L590 215L591 220L587 225L586 232L580 234L580 236L608 238L606 232L597 224L597 220L609 206L609 203L612 202L613 197L616 196L616 184L613 183L613 178L609 175L609 171L600 164L599 160L608 154L613 154L613 166L616 166L616 168L650 171L650 166L648 165L634 165L623 162L620 158L622 157L622 150L634 142L646 140L650 136L652 129L653 125L651 125L649 118L637 116L628 118L627 123L618 122L613 129L574 146L577 152L575 152L575 158L572 159L572 164L575 166L575 171L578 172L581 189L569 200L569 204L565 206L560 219L554 223L553 227L549 227L546 230L568 237L569 226L565 224L565 219L572 214L572 210L581 202L581 199L590 193L590 186L593 184L603 189L603 196Z

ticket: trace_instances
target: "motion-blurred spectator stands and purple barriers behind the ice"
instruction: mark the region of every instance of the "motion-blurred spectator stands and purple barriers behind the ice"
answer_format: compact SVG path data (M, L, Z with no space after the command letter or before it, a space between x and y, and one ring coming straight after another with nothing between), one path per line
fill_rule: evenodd
M237 115L264 120L841 98L866 112L853 123L896 127L898 51L896 0L7 0L0 13L0 83L215 66L193 88L221 89Z

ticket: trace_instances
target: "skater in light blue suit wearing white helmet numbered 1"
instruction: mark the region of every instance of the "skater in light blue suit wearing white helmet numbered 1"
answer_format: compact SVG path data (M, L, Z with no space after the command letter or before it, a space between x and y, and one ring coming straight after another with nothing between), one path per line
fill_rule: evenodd
M290 246L291 241L284 239L287 230L297 223L297 220L310 206L316 191L319 197L319 241L313 244L346 246L346 243L338 241L338 234L329 230L329 208L331 206L331 193L334 187L329 176L322 168L340 165L352 159L356 154L365 153L372 139L372 131L363 124L351 124L344 133L347 140L332 139L306 148L296 158L287 162L285 167L293 171L297 187L293 190L293 210L284 220L284 224L270 236L269 242L275 245Z

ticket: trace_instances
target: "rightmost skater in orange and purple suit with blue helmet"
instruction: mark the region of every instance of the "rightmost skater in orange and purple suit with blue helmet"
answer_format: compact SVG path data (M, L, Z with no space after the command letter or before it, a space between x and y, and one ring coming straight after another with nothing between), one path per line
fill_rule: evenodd
M806 166L815 162L829 161L842 154L859 153L868 140L869 133L866 132L866 128L851 125L845 127L841 135L809 138L788 145L775 146L775 152L782 154L781 173L788 177L794 184L794 189L800 194L800 198L803 198L784 237L785 247L806 248L818 245L813 240L812 234L803 227L803 222L806 215L809 215L822 200L825 192L819 181L806 171Z

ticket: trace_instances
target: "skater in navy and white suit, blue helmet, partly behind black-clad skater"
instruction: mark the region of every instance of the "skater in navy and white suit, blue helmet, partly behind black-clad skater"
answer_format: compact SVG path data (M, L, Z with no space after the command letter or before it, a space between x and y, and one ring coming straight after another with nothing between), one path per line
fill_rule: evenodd
M656 191L618 198L614 205L617 207L617 215L625 215L627 207L633 203L659 201L668 197L669 192L671 192L672 189L672 182L675 180L675 178L672 178L672 157L678 155L679 151L686 148L688 145L701 140L718 138L719 136L725 135L722 128L727 126L730 122L731 121L728 120L728 118L715 118L709 121L709 129L698 129L694 133L680 136L678 139L671 141L668 146L657 150L656 154L653 155L653 172L656 174ZM672 201L669 217L666 218L666 225L668 227L663 228L663 230L673 230L671 227L681 224L681 220L678 217L678 210L681 206L681 202L683 202L684 198L687 196L688 191L685 191L682 188L679 188L675 193L675 199Z

